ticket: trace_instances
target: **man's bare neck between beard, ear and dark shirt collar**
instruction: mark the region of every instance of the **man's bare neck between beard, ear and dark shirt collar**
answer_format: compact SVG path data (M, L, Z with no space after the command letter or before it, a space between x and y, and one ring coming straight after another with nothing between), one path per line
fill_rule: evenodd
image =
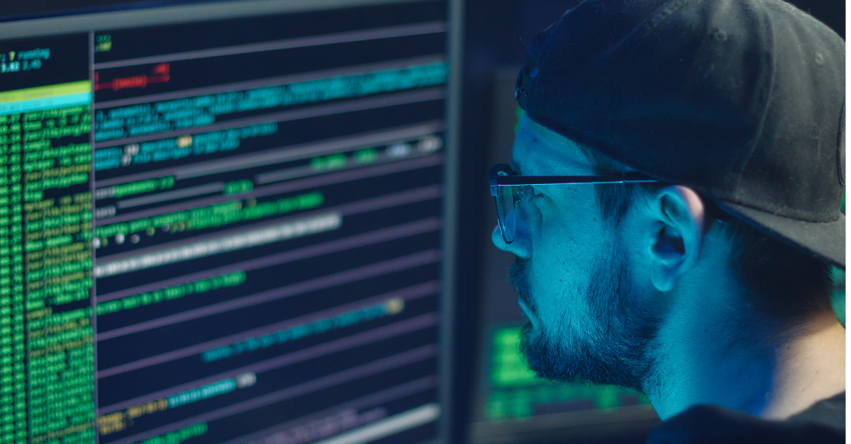
M782 419L845 390L845 328L829 307L790 326L737 307L740 289L721 277L684 282L660 326L646 387L660 418L710 404Z

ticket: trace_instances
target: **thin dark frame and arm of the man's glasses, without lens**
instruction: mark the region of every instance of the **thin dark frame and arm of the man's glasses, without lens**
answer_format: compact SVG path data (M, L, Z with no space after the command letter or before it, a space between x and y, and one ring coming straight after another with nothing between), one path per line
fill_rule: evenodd
M490 168L488 174L490 183L490 195L494 197L496 204L496 219L500 225L500 233L502 240L505 243L514 241L514 236L509 236L505 228L505 216L500 207L500 186L518 186L518 185L580 185L580 184L652 184L660 183L661 180L654 179L647 174L629 171L622 174L605 174L592 176L523 176L514 174L511 165L505 163L497 163ZM517 193L512 192L512 202L517 200Z

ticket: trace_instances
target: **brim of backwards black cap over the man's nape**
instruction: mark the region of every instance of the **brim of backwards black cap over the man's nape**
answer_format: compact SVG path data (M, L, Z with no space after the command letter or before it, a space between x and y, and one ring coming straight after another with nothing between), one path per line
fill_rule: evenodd
M736 203L717 201L717 205L723 211L768 235L845 270L845 214L833 222L808 222L765 213Z

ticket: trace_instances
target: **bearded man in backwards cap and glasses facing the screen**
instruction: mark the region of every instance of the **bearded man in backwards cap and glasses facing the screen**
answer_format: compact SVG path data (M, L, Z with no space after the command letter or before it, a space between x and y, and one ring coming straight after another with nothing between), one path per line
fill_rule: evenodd
M491 191L530 367L642 390L649 442L844 440L842 39L780 0L586 0L528 50Z

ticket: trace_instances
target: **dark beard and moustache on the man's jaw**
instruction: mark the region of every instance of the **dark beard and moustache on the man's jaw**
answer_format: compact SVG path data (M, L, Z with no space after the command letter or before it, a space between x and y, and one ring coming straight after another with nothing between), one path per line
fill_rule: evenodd
M585 295L590 319L577 319L561 310L557 325L546 325L538 312L528 281L527 260L517 258L509 271L531 314L538 319L523 327L521 350L529 367L540 377L562 381L588 381L646 391L653 376L655 338L660 321L638 306L631 288L631 276L622 254L605 248L591 268L587 287L574 290L572 297Z

